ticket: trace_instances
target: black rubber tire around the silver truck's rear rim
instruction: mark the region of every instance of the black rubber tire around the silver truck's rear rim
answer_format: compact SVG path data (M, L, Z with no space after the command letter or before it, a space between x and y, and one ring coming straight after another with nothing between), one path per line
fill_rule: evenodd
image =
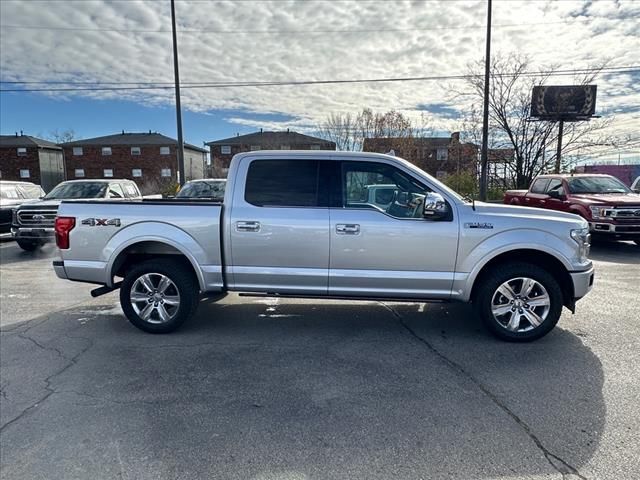
M174 289L177 290L178 305L176 309L173 310L170 319L163 321L160 318L158 302L154 304L155 307L152 307L155 309L155 318L153 311L147 320L143 319L138 312L136 312L131 293L133 288L136 288L136 292L139 291L138 289L142 284L142 280L137 284L136 281L145 275L149 275L146 278L151 279L152 283L154 279L161 280L162 276L167 277L173 283L173 285L169 287L168 295L175 293L173 292ZM155 286L159 285L154 285L154 287ZM167 297L167 299L168 298L169 297ZM172 295L171 298L176 298L176 295ZM134 326L148 333L173 332L195 314L199 300L200 288L193 271L187 267L184 262L176 259L158 258L146 260L134 265L127 271L122 281L122 286L120 287L120 306L125 315ZM163 300L160 301L164 304ZM152 301L149 303L153 304ZM136 302L135 305L136 308L142 305L146 306L144 302ZM149 306L151 307L151 305ZM163 307L160 306L160 308ZM173 309L174 307L167 304L166 309L163 309L163 311L166 313L169 308ZM144 310L141 313L144 313Z

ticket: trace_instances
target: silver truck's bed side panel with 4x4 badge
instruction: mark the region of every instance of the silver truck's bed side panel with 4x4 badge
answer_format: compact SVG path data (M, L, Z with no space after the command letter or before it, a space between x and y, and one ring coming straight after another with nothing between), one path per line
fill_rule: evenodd
M118 271L120 254L144 243L148 251L158 242L159 253L184 254L199 266L205 291L223 287L220 219L222 204L208 200L154 199L132 202L62 202L59 217L75 217L69 250L60 250L67 278L111 286L109 272ZM160 245L164 246L160 246ZM169 244L170 247L166 245ZM167 251L168 249L168 251Z

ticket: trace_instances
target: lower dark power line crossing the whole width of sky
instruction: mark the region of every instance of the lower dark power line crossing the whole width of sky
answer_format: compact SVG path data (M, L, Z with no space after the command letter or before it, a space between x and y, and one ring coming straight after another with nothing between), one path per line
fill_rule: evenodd
M514 77L516 75L532 77L532 76L566 76L581 75L587 73L603 73L603 74L626 74L640 72L640 65L605 67L605 68L582 68L570 70L555 71L539 71L539 72L519 72L511 73L495 73L497 77ZM420 76L420 77L389 77L389 78L368 78L368 79L345 79L345 80L288 80L288 81L239 81L239 82L184 82L184 88L232 88L232 87L271 87L271 86L292 86L292 85L334 85L334 84L350 84L350 83L388 83L388 82L414 82L414 81L433 81L433 80L465 80L475 78L475 75L437 75L437 76ZM18 81L2 81L0 83L24 84ZM35 84L48 85L48 82L34 82ZM73 85L74 82L62 82L65 85ZM79 82L79 85L91 85L88 82ZM81 91L128 91L128 90L166 90L174 88L172 82L124 82L122 84L116 82L104 82L104 85L132 85L132 86L99 86L97 82L89 87L63 87L63 88L11 88L0 89L0 92L81 92Z

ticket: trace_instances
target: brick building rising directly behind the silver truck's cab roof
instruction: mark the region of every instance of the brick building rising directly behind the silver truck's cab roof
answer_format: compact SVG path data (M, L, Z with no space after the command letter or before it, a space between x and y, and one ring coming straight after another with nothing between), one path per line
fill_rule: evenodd
M236 153L252 150L335 150L335 142L297 132L263 132L208 142L212 176L226 177L231 159Z

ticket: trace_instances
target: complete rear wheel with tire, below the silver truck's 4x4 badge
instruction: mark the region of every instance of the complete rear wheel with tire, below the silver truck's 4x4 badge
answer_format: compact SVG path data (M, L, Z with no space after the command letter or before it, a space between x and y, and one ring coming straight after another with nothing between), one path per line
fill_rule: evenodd
M127 272L120 305L129 321L149 333L169 333L193 316L200 292L193 272L174 259L151 259Z

